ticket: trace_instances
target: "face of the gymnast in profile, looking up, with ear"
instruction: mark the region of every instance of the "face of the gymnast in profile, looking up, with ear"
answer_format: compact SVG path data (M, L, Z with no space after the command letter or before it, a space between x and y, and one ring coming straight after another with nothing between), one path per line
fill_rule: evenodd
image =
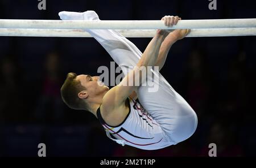
M85 87L85 91L79 93L79 98L95 97L106 93L109 91L102 81L100 81L99 76L90 76L90 75L78 75L76 80L80 81L81 85Z

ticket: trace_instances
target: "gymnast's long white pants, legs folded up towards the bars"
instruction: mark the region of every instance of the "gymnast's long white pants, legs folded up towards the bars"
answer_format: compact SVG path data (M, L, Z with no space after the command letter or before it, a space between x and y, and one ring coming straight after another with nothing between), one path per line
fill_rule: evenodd
M61 13L61 12L60 12ZM94 11L86 11L82 18L65 18L73 20L100 20ZM136 66L142 52L120 33L108 29L86 29L108 51L114 61L122 68L126 75L130 67ZM138 99L144 109L160 124L167 138L174 144L188 139L196 130L197 116L191 106L177 93L174 88L157 71L154 71L154 84L158 91L149 92L150 86L138 88Z

